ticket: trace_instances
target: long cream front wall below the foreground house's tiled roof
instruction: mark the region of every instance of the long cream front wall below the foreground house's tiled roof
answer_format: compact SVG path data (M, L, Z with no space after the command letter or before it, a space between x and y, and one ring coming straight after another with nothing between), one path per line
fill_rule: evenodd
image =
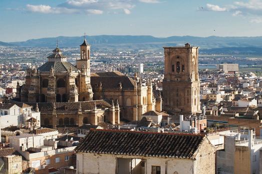
M117 157L122 158L142 158L142 156L128 156L128 155L110 155L110 154L95 154L95 153L77 153L77 173L99 173L110 174L115 173L117 168ZM160 166L161 173L173 174L178 173L197 173L193 170L193 160L191 159L177 159L177 158L161 158L161 157L144 157L145 173L152 173L152 165ZM203 166L204 167L204 166Z

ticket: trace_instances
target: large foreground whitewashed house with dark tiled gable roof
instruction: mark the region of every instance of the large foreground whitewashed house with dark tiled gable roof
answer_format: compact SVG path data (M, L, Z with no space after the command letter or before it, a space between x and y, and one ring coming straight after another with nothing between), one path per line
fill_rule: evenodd
M75 150L78 174L215 173L215 148L199 134L96 129Z

